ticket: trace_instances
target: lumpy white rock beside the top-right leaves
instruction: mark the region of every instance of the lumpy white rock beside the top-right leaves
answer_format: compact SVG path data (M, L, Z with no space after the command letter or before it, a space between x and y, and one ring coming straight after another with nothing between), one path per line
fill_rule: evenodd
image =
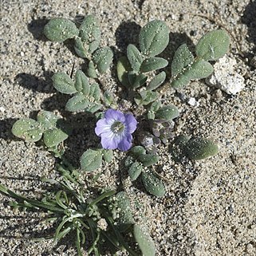
M215 72L207 78L207 84L213 85L228 94L237 94L245 88L245 79L235 70L237 62L227 56L216 61Z

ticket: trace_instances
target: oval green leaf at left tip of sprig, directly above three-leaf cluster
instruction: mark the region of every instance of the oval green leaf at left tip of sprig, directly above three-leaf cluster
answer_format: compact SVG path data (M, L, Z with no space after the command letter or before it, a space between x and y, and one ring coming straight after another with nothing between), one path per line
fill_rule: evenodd
M77 93L75 83L72 79L62 72L55 73L52 77L53 87L60 93L73 94Z

